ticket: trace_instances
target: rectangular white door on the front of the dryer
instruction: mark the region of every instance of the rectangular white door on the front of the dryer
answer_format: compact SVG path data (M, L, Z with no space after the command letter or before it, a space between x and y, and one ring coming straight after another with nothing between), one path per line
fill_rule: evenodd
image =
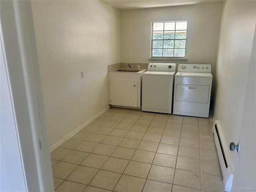
M176 101L208 103L210 86L176 85Z

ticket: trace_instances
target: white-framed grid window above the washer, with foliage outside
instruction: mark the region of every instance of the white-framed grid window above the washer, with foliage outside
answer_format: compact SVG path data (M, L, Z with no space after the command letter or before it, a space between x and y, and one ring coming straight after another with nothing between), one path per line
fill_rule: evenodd
M151 58L185 58L188 21L152 22Z

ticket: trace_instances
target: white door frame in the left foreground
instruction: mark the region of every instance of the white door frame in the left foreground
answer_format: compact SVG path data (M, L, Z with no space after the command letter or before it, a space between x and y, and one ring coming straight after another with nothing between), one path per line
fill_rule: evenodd
M17 133L13 139L18 142L26 191L54 191L31 2L1 1L0 18L6 80ZM7 128L1 126L1 131L4 129ZM12 140L10 145L1 147L11 146ZM16 174L21 173L10 172L15 165L7 165L4 178L13 184ZM1 189L8 189L2 181L1 176Z

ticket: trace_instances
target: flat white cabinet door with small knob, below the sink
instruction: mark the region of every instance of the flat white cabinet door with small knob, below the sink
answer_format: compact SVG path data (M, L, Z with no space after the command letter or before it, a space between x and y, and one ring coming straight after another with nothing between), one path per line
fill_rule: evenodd
M138 82L110 80L110 100L112 105L137 107Z

